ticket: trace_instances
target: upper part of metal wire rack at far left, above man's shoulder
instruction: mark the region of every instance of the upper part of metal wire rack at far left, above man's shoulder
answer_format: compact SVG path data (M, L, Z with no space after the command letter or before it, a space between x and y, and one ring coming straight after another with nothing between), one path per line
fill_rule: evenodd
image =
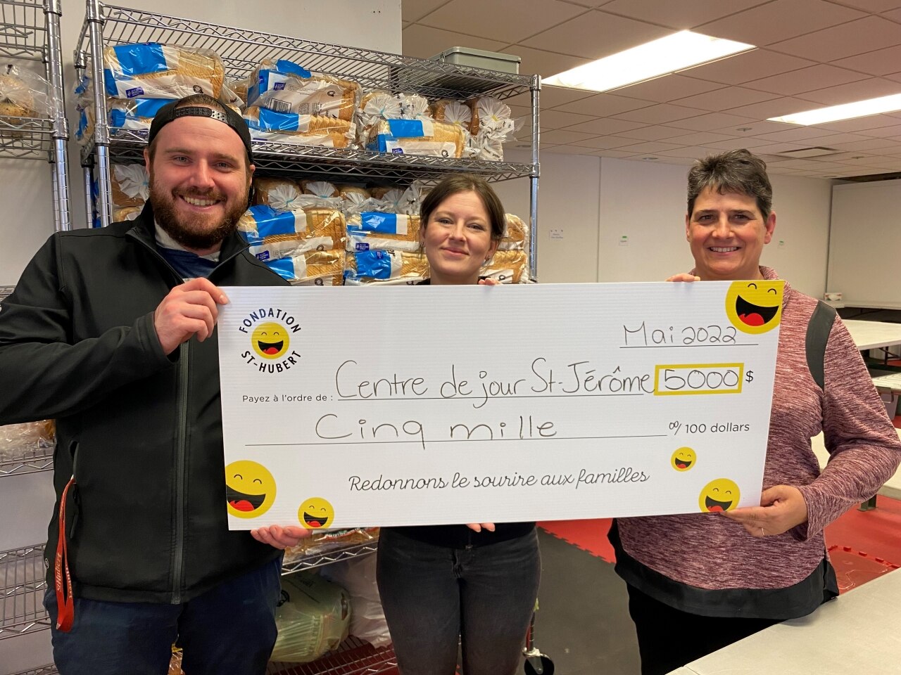
M48 117L0 118L0 157L50 162L57 230L71 227L59 4L60 0L0 0L0 58L41 63L50 83Z

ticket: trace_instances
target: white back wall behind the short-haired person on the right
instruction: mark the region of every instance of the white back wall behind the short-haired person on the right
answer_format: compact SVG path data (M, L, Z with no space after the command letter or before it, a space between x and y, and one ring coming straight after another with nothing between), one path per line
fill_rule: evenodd
M528 161L520 151L506 157ZM542 283L654 281L691 269L685 240L687 166L551 152L542 154L541 164ZM777 227L761 263L775 267L802 293L822 297L832 182L784 175L770 180ZM526 181L496 187L507 211L528 215ZM562 229L563 238L552 239L551 229Z

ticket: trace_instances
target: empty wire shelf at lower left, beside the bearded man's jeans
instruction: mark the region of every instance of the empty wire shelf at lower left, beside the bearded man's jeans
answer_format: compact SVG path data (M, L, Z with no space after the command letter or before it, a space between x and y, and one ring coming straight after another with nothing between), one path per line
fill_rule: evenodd
M0 640L50 627L43 552L43 545L0 552Z

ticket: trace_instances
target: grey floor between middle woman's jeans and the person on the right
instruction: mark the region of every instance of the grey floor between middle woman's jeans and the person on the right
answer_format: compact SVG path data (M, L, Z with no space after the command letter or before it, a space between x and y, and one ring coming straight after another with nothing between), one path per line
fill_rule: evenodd
M637 675L638 645L613 565L539 529L541 608L535 645L554 675Z

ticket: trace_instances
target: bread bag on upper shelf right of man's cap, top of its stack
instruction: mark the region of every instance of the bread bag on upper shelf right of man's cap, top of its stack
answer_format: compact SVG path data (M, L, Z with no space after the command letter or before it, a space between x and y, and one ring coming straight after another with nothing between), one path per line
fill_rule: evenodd
M247 104L275 112L353 120L359 85L312 73L293 61L263 61L250 75Z

